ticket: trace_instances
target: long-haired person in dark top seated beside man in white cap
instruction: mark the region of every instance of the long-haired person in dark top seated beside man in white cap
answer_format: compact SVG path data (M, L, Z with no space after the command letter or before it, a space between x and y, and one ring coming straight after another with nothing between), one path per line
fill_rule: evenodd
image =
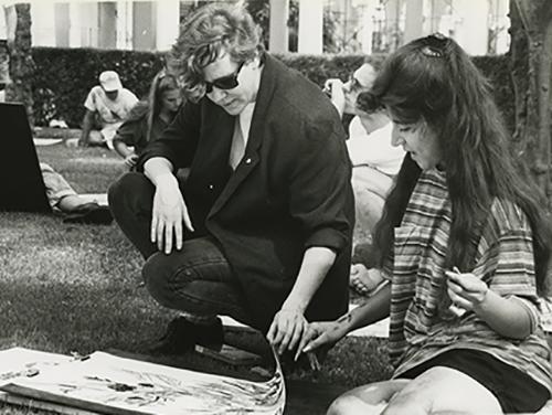
M151 82L148 99L135 105L113 139L115 151L128 168L135 167L148 142L156 140L172 123L181 104L176 76L166 71L158 73Z

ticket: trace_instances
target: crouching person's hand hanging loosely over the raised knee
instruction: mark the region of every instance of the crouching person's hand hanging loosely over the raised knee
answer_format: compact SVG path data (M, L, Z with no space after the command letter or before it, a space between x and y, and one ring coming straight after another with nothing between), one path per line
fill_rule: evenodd
M159 251L170 254L173 241L177 249L182 248L182 222L188 230L193 232L192 222L178 181L174 175L168 174L162 180L159 180L156 185L151 214L150 238L152 243L157 243Z

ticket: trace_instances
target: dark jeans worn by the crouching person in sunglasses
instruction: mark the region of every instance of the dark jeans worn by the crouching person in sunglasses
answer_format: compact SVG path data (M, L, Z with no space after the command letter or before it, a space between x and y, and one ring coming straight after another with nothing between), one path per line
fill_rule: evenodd
M150 242L153 194L153 184L136 172L123 175L108 191L115 221L146 258L142 277L151 296L199 318L225 315L250 324L236 277L212 237L184 240L182 249L169 255Z

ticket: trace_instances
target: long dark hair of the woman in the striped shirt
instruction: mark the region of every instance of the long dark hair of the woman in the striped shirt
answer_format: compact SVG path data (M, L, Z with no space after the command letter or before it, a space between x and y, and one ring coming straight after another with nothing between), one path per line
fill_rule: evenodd
M551 227L542 193L516 166L509 134L491 97L490 85L452 39L434 34L415 40L384 63L371 94L401 124L427 123L439 138L453 223L446 265L471 269L476 244L496 198L519 205L533 233L537 288L546 289ZM393 247L420 175L406 156L374 232L379 264Z

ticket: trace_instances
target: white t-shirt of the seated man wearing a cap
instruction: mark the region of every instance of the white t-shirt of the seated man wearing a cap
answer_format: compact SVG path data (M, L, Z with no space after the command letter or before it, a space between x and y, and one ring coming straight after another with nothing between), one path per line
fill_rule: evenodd
M98 113L103 127L107 124L121 123L130 109L138 103L138 98L127 88L121 88L117 98L109 99L104 89L96 85L91 89L84 106L93 113Z

